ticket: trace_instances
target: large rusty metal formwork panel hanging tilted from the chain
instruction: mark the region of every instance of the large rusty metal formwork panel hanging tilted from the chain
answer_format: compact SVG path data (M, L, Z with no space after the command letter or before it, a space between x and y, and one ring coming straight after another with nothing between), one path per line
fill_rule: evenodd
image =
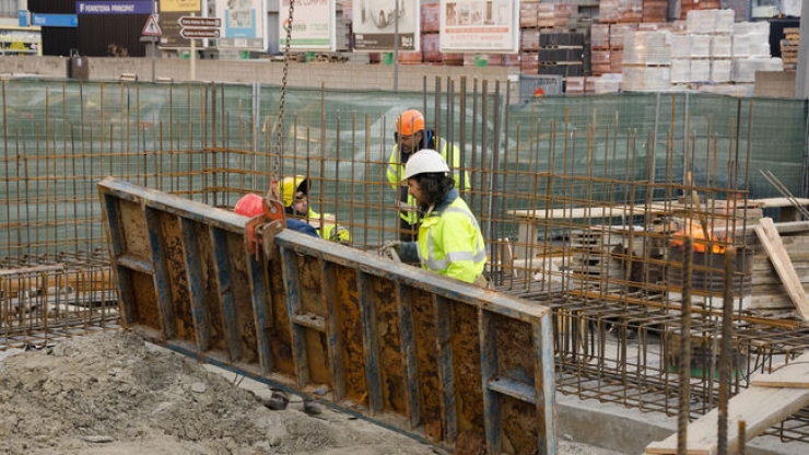
M548 307L290 230L266 260L246 218L98 190L127 329L445 448L556 452Z

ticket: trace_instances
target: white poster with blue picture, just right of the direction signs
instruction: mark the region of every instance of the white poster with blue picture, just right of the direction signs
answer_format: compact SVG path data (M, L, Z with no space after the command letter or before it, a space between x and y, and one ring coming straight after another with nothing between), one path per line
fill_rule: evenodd
M216 18L222 20L222 35L216 46L245 50L263 50L265 18L267 11L262 0L220 0Z

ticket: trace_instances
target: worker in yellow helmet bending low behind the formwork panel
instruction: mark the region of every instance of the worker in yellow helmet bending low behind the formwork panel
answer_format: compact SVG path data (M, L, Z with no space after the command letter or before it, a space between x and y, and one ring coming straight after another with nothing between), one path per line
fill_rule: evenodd
M342 244L351 243L351 233L348 229L335 221L335 215L312 210L309 206L309 180L303 175L284 177L278 183L278 196L283 201L284 211L293 219L303 220L317 230L318 235L327 241ZM323 225L320 223L323 222Z

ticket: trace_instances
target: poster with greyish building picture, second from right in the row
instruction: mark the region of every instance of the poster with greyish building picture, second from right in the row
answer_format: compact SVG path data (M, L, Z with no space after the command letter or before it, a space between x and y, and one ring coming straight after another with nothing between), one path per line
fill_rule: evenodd
M354 50L419 50L420 15L419 0L354 0Z

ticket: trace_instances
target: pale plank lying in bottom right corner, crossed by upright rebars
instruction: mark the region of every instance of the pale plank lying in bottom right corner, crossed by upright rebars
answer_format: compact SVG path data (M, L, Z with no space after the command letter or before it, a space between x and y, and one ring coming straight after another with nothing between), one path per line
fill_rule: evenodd
M787 365L785 368L790 368ZM809 405L809 389L752 386L728 402L727 446L736 447L739 440L739 420L746 423L746 442L765 432L770 427ZM714 409L688 428L689 455L717 453L718 409ZM646 454L676 455L677 433L646 446Z

